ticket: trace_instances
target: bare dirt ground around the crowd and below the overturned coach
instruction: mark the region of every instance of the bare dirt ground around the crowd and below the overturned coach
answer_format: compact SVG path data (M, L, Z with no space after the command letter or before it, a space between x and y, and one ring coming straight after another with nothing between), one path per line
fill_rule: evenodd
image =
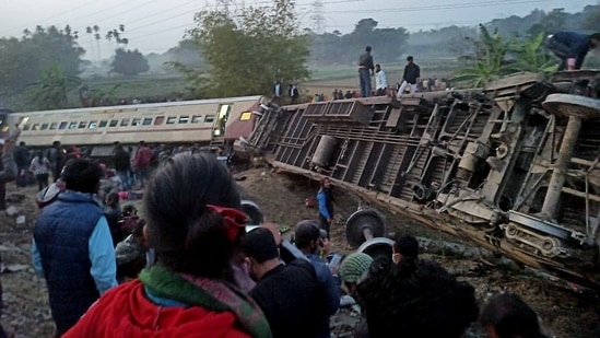
M298 220L317 215L316 209L305 206L305 199L314 197L318 190L316 182L269 168L255 168L238 173L236 176L245 177L239 182L245 197L257 202L272 222L293 228ZM46 285L31 268L32 229L37 213L36 189L16 189L14 183L8 184L7 188L7 196L14 199L9 206L20 209L17 215L25 215L25 222L17 223L16 215L10 217L3 211L0 213L0 252L3 263L1 279L4 289L1 323L13 337L51 337L54 324ZM337 224L331 229L333 247L337 252L348 253L350 247L345 242L344 220L357 209L360 199L341 190L334 190L334 198L336 213L339 215ZM386 215L390 233L410 233L437 242L454 242L468 246L381 208L378 209ZM437 260L470 282L481 302L499 291L520 294L538 312L549 337L600 337L600 300L596 294L557 287L543 276L517 265L486 263L477 254L451 255L425 249L424 257ZM470 329L468 336L485 337L477 327Z

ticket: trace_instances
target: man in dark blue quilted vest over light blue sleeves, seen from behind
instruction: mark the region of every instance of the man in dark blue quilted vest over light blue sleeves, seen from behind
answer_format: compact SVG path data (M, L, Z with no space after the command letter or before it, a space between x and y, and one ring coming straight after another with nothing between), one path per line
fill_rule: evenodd
M117 285L110 231L94 198L102 174L91 160L69 161L61 173L67 189L42 210L35 224L33 265L48 285L56 337Z

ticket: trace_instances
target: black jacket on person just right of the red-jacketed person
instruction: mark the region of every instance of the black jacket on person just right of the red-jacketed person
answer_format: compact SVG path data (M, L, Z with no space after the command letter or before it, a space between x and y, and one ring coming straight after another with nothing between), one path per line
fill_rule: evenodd
M273 338L314 338L322 296L313 266L296 259L267 272L250 290L273 333Z

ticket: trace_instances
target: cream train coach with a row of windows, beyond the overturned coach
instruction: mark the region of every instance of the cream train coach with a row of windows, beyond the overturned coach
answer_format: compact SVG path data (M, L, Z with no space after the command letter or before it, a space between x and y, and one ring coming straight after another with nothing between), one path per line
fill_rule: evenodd
M20 141L85 147L92 156L110 154L114 142L224 144L252 130L262 96L2 113L2 132L19 125Z

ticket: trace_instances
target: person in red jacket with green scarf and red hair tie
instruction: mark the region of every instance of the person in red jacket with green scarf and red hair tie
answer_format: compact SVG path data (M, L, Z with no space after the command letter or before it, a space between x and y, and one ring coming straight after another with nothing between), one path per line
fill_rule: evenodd
M178 154L150 179L144 206L157 263L106 292L63 337L272 337L232 278L247 217L227 168Z

